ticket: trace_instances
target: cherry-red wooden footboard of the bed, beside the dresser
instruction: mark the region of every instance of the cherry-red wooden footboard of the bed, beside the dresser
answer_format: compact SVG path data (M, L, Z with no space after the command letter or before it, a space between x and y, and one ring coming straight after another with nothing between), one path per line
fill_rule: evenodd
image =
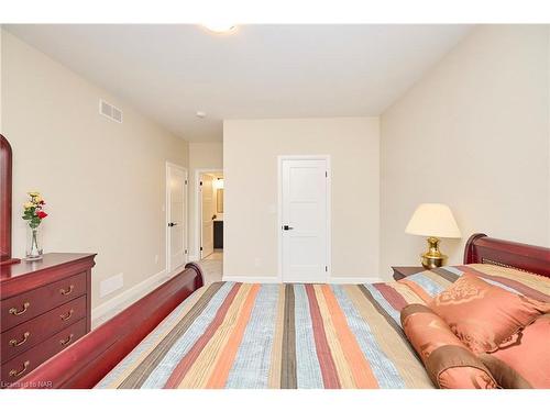
M204 285L196 264L38 366L13 389L94 388L179 303Z

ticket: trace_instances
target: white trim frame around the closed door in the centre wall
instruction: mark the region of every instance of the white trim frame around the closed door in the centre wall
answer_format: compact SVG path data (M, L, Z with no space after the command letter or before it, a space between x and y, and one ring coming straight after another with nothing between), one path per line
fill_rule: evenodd
M327 165L327 272L324 281L328 282L332 278L332 212L331 212L331 198L332 198L332 168L330 164L330 155L279 155L277 156L277 247L278 247L278 263L277 263L277 279L283 282L283 162L284 160L324 160ZM320 279L321 280L321 279Z

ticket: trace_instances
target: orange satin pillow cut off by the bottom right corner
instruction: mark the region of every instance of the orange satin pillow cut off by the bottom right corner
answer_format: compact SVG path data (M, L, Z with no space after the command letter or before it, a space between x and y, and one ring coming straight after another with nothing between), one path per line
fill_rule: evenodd
M480 358L503 388L550 389L550 314L537 318Z

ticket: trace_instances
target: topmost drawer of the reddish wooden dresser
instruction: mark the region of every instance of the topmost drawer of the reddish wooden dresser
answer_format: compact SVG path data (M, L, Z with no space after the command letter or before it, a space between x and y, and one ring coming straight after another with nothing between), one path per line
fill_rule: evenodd
M1 329L7 331L86 293L86 272L1 301Z

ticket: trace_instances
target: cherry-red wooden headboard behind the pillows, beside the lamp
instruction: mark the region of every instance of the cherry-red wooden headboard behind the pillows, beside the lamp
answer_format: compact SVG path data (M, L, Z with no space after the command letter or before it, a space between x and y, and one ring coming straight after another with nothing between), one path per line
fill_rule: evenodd
M492 264L550 277L550 248L487 237L470 236L464 249L464 265Z

